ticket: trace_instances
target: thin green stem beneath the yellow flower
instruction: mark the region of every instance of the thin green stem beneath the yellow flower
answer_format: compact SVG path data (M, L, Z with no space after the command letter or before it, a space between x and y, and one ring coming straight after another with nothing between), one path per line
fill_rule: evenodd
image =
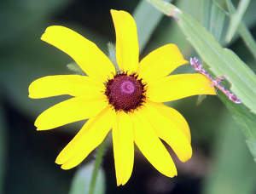
M102 144L98 146L98 150L96 153L96 161L94 164L94 168L93 168L93 172L92 172L92 177L90 180L90 191L89 194L93 194L94 192L94 188L96 185L96 179L97 179L97 174L99 171L99 168L101 167L101 163L102 163L102 156L105 150L105 145L107 143L107 139L108 139L108 135L106 136L105 140L102 141Z

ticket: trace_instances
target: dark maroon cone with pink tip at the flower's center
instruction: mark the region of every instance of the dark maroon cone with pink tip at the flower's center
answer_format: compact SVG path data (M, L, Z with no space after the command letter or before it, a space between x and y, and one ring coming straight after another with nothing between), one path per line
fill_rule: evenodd
M134 111L138 106L142 106L145 96L145 84L142 79L137 79L137 74L128 75L119 72L108 80L105 94L108 102L116 111Z

